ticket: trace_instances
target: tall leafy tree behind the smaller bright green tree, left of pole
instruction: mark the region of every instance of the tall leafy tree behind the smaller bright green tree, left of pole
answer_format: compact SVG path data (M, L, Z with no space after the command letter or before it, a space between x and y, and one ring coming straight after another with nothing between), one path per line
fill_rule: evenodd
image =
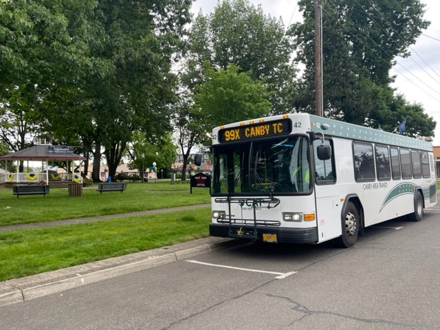
M287 113L296 70L292 65L292 39L281 19L265 15L248 0L226 0L207 17L200 13L190 32L192 58L227 69L229 64L256 80L264 80L274 93L272 113Z

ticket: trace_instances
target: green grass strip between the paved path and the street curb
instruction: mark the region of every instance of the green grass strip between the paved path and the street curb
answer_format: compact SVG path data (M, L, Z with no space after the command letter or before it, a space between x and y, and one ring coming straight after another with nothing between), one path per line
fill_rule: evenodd
M208 236L210 208L0 232L0 281Z

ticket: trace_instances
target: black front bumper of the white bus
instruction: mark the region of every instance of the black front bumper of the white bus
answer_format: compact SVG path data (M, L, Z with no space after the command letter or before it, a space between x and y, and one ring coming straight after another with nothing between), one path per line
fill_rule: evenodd
M236 234L231 234L231 232L252 232L254 226L252 225L231 225L225 223L210 223L209 234L210 236L217 237L234 237L248 239L248 236L238 237ZM316 228L279 228L279 227L267 227L267 226L257 226L256 227L256 237L259 241L267 241L263 239L267 235L274 237L276 235L276 243L318 243L318 231Z

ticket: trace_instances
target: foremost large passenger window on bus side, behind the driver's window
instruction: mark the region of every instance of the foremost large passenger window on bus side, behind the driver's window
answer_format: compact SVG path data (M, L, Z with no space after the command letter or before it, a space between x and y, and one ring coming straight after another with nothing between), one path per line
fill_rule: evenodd
M373 146L371 144L353 142L353 160L356 181L375 179Z

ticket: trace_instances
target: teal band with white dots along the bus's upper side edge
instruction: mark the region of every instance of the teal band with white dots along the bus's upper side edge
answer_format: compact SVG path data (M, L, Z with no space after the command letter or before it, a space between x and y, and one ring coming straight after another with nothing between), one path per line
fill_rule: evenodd
M432 144L430 142L417 140L413 137L399 135L397 133L378 131L377 129L349 124L348 122L339 122L316 115L310 115L310 121L311 131L322 132L329 136L432 151ZM322 124L328 124L329 129L324 129Z

